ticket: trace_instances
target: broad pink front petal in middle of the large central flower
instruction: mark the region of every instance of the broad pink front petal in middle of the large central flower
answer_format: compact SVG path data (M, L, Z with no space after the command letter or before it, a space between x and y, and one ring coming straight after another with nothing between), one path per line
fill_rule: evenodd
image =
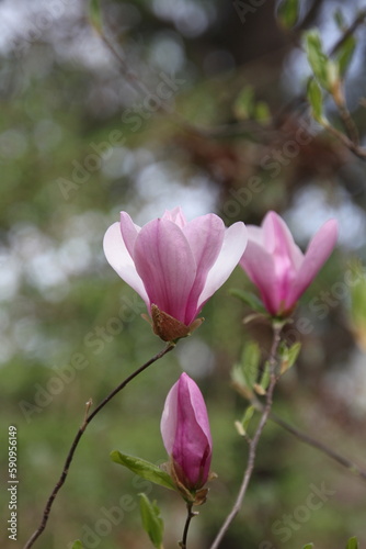
M181 228L168 220L151 221L136 238L134 259L150 303L184 323L196 264Z

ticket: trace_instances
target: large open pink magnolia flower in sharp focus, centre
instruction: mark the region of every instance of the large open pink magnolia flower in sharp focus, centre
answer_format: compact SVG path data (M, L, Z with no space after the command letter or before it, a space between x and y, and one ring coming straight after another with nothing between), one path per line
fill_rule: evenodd
M206 301L238 265L245 246L243 223L226 228L215 214L186 222L181 208L142 227L122 212L121 222L104 236L107 261L142 298L155 332L164 340L187 335Z

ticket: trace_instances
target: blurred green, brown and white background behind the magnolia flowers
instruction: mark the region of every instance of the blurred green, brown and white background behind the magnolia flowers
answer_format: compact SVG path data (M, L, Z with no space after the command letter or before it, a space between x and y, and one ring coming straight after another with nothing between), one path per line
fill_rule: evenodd
M162 348L140 318L140 299L103 255L121 210L144 224L181 205L187 219L216 212L227 225L260 224L275 210L302 249L338 219L339 247L288 328L302 351L274 410L366 468L365 163L311 120L302 40L317 27L330 52L366 2L305 0L295 25L265 0L91 7L0 2L1 547L22 547L38 525L84 403L98 403ZM354 36L345 90L363 144L363 24ZM324 108L343 131L332 100ZM266 349L271 337L264 322L242 323L250 310L231 288L251 288L240 268L205 306L194 336L96 416L34 547L70 548L78 538L85 548L150 547L138 511L145 489L161 506L164 547L176 547L183 502L108 455L167 459L160 415L182 370L199 384L211 422L218 479L190 534L190 549L209 547L248 452L233 425L247 403L230 370L250 340ZM9 425L19 435L16 542L4 531ZM317 509L307 505L313 486L328 490ZM354 535L363 547L365 494L365 482L270 423L222 548L336 549Z

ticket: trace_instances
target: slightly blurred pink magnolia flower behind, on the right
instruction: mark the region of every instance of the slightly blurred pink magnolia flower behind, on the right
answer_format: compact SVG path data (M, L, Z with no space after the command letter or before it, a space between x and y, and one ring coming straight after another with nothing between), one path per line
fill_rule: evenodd
M338 223L335 220L324 223L305 255L275 212L266 214L261 227L249 225L248 233L248 247L240 266L259 288L268 313L286 316L331 255Z

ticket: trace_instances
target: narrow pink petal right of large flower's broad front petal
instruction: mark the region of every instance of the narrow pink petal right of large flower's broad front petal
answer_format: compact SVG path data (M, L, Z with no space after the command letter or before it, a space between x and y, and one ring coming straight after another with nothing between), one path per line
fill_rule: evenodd
M222 220L215 214L202 215L183 228L197 266L196 279L187 302L186 325L190 325L196 317L198 298L205 287L208 272L222 248L225 231Z

